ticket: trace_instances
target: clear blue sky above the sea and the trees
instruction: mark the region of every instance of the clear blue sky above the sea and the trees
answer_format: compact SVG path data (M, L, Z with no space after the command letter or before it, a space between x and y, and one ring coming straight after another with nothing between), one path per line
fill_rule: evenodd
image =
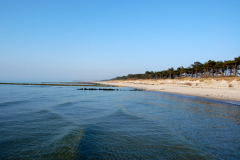
M0 82L105 80L238 56L239 0L0 1Z

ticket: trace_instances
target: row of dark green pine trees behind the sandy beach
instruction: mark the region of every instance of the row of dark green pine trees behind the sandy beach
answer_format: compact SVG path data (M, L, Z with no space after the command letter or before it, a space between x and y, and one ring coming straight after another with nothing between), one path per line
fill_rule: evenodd
M202 77L224 77L224 76L240 76L240 56L234 60L214 61L209 60L205 63L194 62L189 67L183 66L174 69L162 71L146 71L144 74L129 74L113 78L112 80L126 79L177 79L182 77L202 78Z

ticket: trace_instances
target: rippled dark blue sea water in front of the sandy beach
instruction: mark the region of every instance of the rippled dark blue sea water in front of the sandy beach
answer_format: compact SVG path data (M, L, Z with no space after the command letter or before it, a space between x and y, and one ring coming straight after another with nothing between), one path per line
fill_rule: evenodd
M0 85L0 159L240 159L239 103L78 88Z

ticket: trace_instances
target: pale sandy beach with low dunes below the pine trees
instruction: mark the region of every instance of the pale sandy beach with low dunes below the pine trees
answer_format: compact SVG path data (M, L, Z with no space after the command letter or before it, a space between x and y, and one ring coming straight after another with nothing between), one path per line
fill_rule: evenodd
M240 77L111 80L96 83L240 102Z

